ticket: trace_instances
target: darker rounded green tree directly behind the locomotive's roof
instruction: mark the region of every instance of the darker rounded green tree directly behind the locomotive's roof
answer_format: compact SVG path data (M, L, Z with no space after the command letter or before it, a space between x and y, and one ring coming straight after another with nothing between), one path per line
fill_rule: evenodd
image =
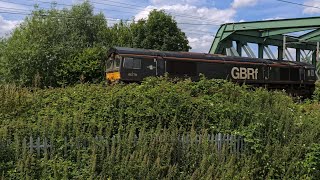
M188 39L172 16L153 10L148 19L141 19L131 26L133 46L165 51L189 51Z

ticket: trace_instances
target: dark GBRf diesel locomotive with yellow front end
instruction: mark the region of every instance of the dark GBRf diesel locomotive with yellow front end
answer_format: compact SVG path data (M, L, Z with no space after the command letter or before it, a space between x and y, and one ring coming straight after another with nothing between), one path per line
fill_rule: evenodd
M217 54L111 48L106 61L108 82L140 82L148 76L227 79L294 96L310 97L315 89L316 69L304 62L230 57Z

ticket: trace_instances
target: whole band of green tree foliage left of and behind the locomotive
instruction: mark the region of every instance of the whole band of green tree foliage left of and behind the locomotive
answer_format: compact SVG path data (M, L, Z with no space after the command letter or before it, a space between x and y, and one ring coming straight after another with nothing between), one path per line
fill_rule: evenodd
M63 86L104 77L111 46L188 51L174 19L152 11L147 21L111 27L88 2L71 9L36 8L1 46L1 80L25 86Z

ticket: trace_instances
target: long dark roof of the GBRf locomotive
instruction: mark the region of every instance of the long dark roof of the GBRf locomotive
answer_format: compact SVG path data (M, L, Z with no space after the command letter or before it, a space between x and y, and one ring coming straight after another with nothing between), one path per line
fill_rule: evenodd
M287 66L308 66L313 68L313 65L305 62L286 61L286 60L271 60L261 58L249 58L249 57L237 57L237 56L225 56L220 54L207 54L207 53L195 53L195 52L175 52L175 51L159 51L149 49L137 49L127 47L114 47L110 48L109 54L118 53L122 55L141 55L141 56L160 56L162 58L183 58L194 60L223 60L223 61L240 61L240 62L253 62L263 64L279 64Z

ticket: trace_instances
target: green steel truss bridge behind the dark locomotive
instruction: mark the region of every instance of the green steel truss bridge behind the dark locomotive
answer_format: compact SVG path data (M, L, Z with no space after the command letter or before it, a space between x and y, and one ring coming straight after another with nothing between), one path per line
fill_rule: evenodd
M320 75L319 42L320 17L227 23L209 53L304 61L317 66Z

